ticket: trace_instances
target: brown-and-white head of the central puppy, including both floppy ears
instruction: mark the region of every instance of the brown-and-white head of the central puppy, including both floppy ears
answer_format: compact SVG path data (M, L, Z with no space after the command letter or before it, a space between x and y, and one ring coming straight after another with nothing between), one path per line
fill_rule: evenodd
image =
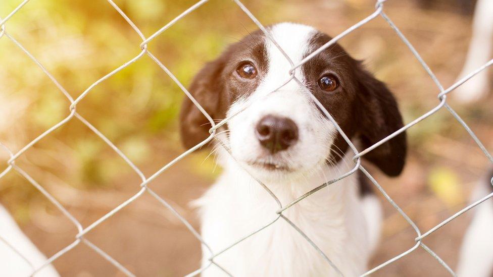
M268 30L295 64L330 40L299 24L281 23ZM208 63L190 87L213 119L235 115L223 138L233 157L258 178L306 174L331 166L346 152L347 143L308 93L364 148L403 126L386 86L339 45L328 47L295 71L301 85L291 80L280 87L288 80L290 68L278 48L257 31ZM185 99L181 112L185 146L206 139L210 127L199 109ZM364 157L395 176L402 171L405 155L402 133Z

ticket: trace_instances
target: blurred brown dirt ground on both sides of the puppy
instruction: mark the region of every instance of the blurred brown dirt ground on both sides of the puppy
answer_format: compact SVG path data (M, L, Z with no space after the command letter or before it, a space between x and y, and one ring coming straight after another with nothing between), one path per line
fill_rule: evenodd
M370 5L358 4L368 2L352 1L355 3L353 8L337 14L339 7L323 3L290 3L283 9L288 10L288 15L289 11L296 11L296 17L287 16L286 20L311 24L335 35L373 11ZM416 46L438 79L446 87L450 86L465 57L470 18L449 12L408 8L402 2L388 1L385 11ZM404 115L406 122L438 103L438 90L429 76L382 19L375 19L363 26L344 38L341 44L357 58L366 58L369 69L389 83L402 108L407 111ZM458 107L452 103L453 107ZM490 152L493 150L490 139L493 136L491 104L493 99L489 97L478 105L458 107L458 112L466 122L471 123L471 128ZM474 183L487 168L487 160L446 110L418 125L420 127L410 129L410 154L403 175L390 179L376 170L372 173L415 220L420 230L426 232L467 203ZM176 140L170 141L175 144L171 145L166 138L157 138L154 160L140 166L146 176L152 175L183 151ZM150 185L156 193L169 200L194 228L199 228L198 220L188 203L198 198L213 182L213 176L208 173L211 170L209 163L205 168L197 168L204 157L205 154L186 157ZM445 203L430 189L428 174L436 167L447 167L459 178L460 200L453 204ZM129 170L122 173L121 178L108 189L82 191L64 186L63 182L44 182L43 185L46 184L48 191L60 199L85 227L135 194L140 189L139 183L138 176ZM414 230L383 196L381 201L385 210L383 237L371 260L371 267L411 248L416 237ZM47 206L44 202L33 205ZM69 220L53 212L53 207L37 210L39 214L31 214L31 220L22 228L41 251L51 256L74 241L76 229ZM467 214L460 216L424 240L452 268L457 263L458 249L468 222ZM97 226L86 238L138 276L178 276L199 268L200 243L169 210L147 193ZM60 257L54 265L63 276L122 275L83 244ZM447 276L448 272L426 251L418 248L374 274L397 275Z

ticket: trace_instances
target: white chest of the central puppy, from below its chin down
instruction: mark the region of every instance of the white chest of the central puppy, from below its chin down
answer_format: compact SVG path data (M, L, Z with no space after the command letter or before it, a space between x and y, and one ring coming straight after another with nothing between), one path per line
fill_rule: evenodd
M351 170L342 160L319 174L282 184L265 184L286 205L325 181ZM269 224L279 205L267 191L234 162L196 203L201 207L202 236L218 252ZM371 242L367 218L352 175L310 195L283 212L337 266L344 276L363 273ZM203 266L209 252L204 249ZM332 276L329 263L283 218L214 258L234 276ZM204 276L224 273L214 265Z

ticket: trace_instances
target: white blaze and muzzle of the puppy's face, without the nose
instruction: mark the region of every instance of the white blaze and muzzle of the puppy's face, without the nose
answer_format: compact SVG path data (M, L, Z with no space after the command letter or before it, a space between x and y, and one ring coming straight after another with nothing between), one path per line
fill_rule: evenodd
M299 63L310 50L310 40L317 33L312 27L293 23L274 25L269 32L294 64ZM335 129L297 82L291 80L279 88L288 80L291 65L268 38L265 38L265 47L267 73L261 76L255 92L236 100L228 109L228 117L235 115L228 122L232 155L247 163L257 160L285 163L294 171L310 172L325 164ZM301 82L306 81L301 68L295 71L295 77ZM277 91L273 92L275 89ZM299 130L298 141L275 158L265 153L255 131L260 120L268 115L288 118ZM269 174L266 176L270 176Z

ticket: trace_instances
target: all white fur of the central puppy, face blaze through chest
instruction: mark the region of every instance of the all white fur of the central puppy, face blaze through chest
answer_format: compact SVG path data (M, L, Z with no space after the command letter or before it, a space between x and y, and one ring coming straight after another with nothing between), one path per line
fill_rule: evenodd
M311 27L289 23L275 25L271 30L294 63L303 58L314 31ZM228 146L233 157L224 150L219 151L224 173L196 201L201 207L202 236L216 253L277 217L278 204L252 175L286 205L354 167L350 155L344 156L335 167L326 164L325 158L336 131L295 82L269 94L286 80L290 66L272 43L267 40L266 45L267 75L253 95L239 99L228 111L231 115L248 106L228 123ZM300 70L296 74L304 80ZM299 128L297 144L278 153L276 160L264 153L265 149L254 133L256 124L266 115L288 117ZM281 160L293 172L272 173L250 165L252 160L271 163ZM362 201L356 175L310 195L285 210L283 215L298 226L344 275L355 276L366 270L370 249L375 247L378 238L377 221L381 219L381 211L378 201L370 198ZM203 266L206 266L209 251L204 248L203 254ZM335 275L327 261L282 218L220 254L214 261L234 276ZM214 265L203 272L204 276L224 274Z

